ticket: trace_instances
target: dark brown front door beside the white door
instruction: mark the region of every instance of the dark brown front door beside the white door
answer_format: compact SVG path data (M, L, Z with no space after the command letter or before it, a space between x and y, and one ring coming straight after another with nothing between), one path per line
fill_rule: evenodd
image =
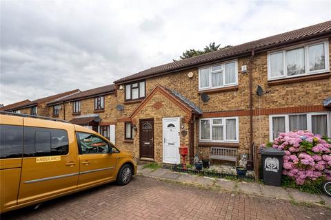
M154 159L154 120L140 120L140 157Z

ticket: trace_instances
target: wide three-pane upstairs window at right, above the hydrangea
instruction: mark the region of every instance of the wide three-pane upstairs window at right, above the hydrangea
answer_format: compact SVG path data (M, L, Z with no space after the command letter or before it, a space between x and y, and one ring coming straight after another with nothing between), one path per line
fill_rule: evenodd
M268 54L268 79L319 74L329 70L328 41L290 47Z

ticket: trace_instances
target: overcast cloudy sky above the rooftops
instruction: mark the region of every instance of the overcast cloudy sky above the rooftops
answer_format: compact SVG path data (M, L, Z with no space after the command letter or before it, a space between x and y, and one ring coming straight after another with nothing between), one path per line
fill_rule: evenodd
M331 1L1 2L0 103L92 89L215 41L331 20Z

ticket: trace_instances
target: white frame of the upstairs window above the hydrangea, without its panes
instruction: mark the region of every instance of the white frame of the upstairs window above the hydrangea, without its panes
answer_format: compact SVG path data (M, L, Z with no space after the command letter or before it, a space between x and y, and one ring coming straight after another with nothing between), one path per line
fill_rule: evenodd
M308 47L318 45L318 44L324 44L324 56L325 56L325 69L317 69L314 71L310 71L309 69L309 61L308 61ZM293 75L293 76L288 76L288 68L286 66L286 52L288 50L295 50L303 47L304 53L305 53L305 73L304 74L299 74L299 75ZM270 65L270 55L272 54L278 54L278 53L283 53L283 76L271 76L271 65ZM329 41L328 39L322 39L319 41L312 41L310 43L303 43L300 45L295 45L292 47L285 47L282 50L274 50L268 52L268 80L279 80L281 78L294 78L294 77L300 77L300 76L308 76L308 75L313 75L313 74L320 74L323 72L330 72L330 56L329 56Z

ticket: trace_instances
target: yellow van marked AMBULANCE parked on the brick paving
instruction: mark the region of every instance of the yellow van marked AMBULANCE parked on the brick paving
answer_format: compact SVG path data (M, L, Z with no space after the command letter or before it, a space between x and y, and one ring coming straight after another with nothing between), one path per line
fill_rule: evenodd
M0 213L111 181L125 185L137 172L132 155L99 133L17 115L0 113Z

